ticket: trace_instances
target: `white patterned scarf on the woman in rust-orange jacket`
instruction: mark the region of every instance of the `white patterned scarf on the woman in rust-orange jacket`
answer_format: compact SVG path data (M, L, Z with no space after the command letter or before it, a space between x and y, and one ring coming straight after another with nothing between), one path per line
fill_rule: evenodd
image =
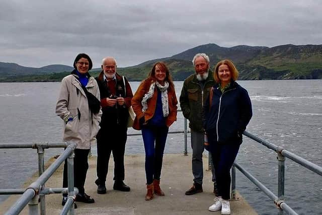
M169 100L168 100L169 83L167 81L165 81L165 86L160 85L158 82L153 82L150 85L149 91L144 95L141 102L142 112L144 113L147 110L146 102L148 99L150 99L153 96L155 85L161 91L163 116L167 117L169 115Z

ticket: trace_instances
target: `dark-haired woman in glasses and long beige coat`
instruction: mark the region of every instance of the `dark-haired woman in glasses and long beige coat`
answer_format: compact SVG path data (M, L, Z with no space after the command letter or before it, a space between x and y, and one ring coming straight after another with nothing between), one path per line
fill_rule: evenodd
M85 193L84 185L89 168L88 155L100 129L102 115L100 91L97 82L88 73L93 63L87 54L78 54L73 66L75 69L71 75L61 81L56 114L64 121L63 141L77 144L74 151L74 186L78 189L75 201L94 203L94 199ZM63 187L67 185L67 162L65 161ZM62 205L66 200L67 194L64 193Z

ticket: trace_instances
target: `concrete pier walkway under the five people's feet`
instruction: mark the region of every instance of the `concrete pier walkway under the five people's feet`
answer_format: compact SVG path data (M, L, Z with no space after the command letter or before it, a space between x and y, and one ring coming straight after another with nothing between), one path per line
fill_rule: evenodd
M49 161L52 162L53 159ZM130 192L113 190L113 159L107 180L107 193L97 194L94 181L96 180L96 157L89 159L90 168L87 175L85 190L95 199L94 204L76 202L76 214L221 214L220 211L208 211L213 203L214 194L211 182L211 172L204 173L203 193L187 196L185 191L193 184L191 172L191 155L165 154L160 186L166 193L165 196L155 196L151 201L145 201L146 193L144 155L127 155L125 157L125 183L131 187ZM47 164L48 165L48 164ZM204 158L206 169L207 158ZM46 183L46 187L60 187L62 184L62 166L55 175ZM25 186L35 181L35 177L25 183ZM257 212L239 196L238 201L230 201L231 214L257 214ZM12 195L0 205L0 214L17 200L19 195ZM60 214L61 195L50 194L46 196L46 214ZM28 206L21 212L28 214Z

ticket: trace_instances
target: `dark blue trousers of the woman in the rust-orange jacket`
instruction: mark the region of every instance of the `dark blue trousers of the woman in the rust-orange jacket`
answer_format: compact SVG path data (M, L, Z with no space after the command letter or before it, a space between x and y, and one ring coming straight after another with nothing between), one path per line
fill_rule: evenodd
M167 126L142 126L141 132L145 150L146 184L151 184L153 179L160 180L168 131L169 128Z

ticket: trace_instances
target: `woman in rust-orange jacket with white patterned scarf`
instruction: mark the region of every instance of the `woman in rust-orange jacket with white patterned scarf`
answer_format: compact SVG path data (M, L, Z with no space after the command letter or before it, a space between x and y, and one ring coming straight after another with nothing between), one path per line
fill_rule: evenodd
M170 125L177 120L177 96L169 69L156 62L132 99L133 128L141 130L145 149L147 193L145 200L165 193L160 189L163 154Z

